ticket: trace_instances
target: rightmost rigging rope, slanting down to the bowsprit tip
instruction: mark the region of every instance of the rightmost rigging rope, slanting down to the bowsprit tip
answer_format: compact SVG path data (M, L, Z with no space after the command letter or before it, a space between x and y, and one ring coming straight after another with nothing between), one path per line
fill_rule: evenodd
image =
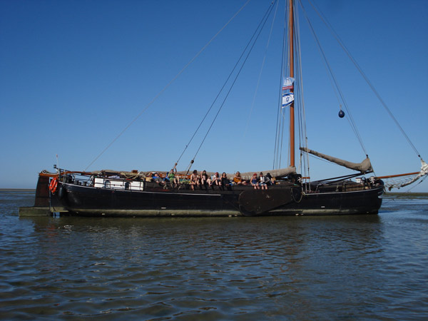
M387 113L389 114L389 116L392 118L392 121L394 121L395 125L399 128L399 130L401 131L401 133L404 136L404 138L406 138L406 140L409 143L409 145L413 148L413 151L417 154L417 157L421 158L421 155L420 155L419 151L417 151L417 148L413 145L412 141L410 141L409 136L407 136L407 134L404 132L404 129L402 128L402 126L400 126L399 122L397 121L397 118L394 117L394 115L392 114L392 111L387 106L387 103L384 102L384 100L382 99L382 97L380 96L380 94L377 92L376 88L374 88L372 82L366 76L365 72L362 70L362 68L357 63L357 61L355 60L355 58L352 56L352 54L350 53L350 51L347 49L347 46L345 46L345 43L342 41L342 39L340 39L340 36L336 33L335 29L333 29L333 27L330 24L330 22L327 21L327 19L322 14L322 12L319 9L317 9L317 7L314 4L312 4L312 1L310 1L310 0L308 0L308 1L311 4L312 8L315 10L315 12L317 12L318 16L320 16L320 19L324 22L325 26L327 26L327 29L330 29L330 32L335 37L336 41L340 44L340 46L342 47L343 51L345 51L345 54L347 54L347 56L350 58L350 60L352 61L352 63L354 63L355 68L357 68L357 70L360 72L362 78L364 78L365 81L367 82L367 84L370 86L370 89L372 89L374 95L377 96L377 99L379 99L379 101L382 104L382 106L384 107L384 109L387 111Z

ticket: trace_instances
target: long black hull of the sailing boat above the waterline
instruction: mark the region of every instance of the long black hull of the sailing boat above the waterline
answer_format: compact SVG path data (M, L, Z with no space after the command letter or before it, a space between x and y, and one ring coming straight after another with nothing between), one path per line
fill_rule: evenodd
M300 187L289 186L269 190L131 191L59 183L54 197L72 215L148 217L376 214L382 194L383 185L345 192L300 193Z

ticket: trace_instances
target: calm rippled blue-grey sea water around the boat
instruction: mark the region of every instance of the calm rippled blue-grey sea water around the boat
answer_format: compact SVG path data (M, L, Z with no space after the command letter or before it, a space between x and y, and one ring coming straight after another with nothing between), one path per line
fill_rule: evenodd
M379 215L19 218L0 192L3 320L427 320L428 198Z

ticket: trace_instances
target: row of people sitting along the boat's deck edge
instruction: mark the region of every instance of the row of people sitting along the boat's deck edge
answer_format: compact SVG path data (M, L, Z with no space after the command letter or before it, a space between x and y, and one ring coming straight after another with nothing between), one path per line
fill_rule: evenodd
M166 173L165 178L162 179L158 173L154 173L152 177L153 182L163 183L163 181L168 181L170 185L174 188L180 183L180 179L177 175L177 170L175 168L171 169ZM275 184L275 178L272 178L270 173L263 175L260 173L254 173L250 180L245 180L240 172L236 172L235 176L230 179L228 175L223 172L221 175L218 172L215 172L213 175L208 175L206 170L203 170L202 173L198 173L198 170L193 170L193 173L190 175L190 180L188 181L190 188L195 190L195 187L198 188L218 188L220 190L230 190L232 185L252 185L255 189L267 189L267 185Z

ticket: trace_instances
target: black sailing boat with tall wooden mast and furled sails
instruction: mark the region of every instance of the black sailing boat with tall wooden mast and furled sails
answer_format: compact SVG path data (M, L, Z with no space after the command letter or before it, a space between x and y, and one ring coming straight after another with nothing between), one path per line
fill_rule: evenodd
M277 1L272 1L269 16ZM202 179L199 173L187 170L176 171L176 165L165 181L158 172L118 172L114 170L72 171L56 168L56 173L42 172L36 190L36 205L50 204L53 211L65 211L72 215L106 216L230 216L230 215L349 215L375 214L382 205L384 179L374 175L368 156L361 163L327 156L307 146L305 134L299 148L295 144L296 108L302 111L302 78L299 33L296 31L297 1L287 0L285 21L288 26L284 36L283 81L278 106L276 155L280 153L279 133L283 128L282 116L289 114L290 159L287 168L263 170L269 173L262 182L250 173L225 174L220 180L217 173L206 173ZM263 17L265 19L265 17ZM266 18L267 19L267 18ZM263 22L264 21L264 22ZM266 20L262 20L264 25ZM261 30L261 29L260 29ZM255 33L257 34L257 33ZM259 32L260 34L260 32ZM255 38L257 40L257 38ZM250 54L250 51L248 51ZM287 60L287 61L285 61ZM244 61L245 63L245 61ZM242 67L241 67L242 68ZM238 78L238 75L236 78ZM235 78L235 79L236 79ZM231 89L232 87L230 87ZM345 111L340 110L340 117ZM301 119L301 118L300 118ZM305 127L297 123L299 133ZM208 134L208 133L207 133ZM300 151L300 172L296 166L296 151ZM323 158L345 166L356 173L324 180L312 181L305 158L309 155ZM420 156L419 156L420 158ZM194 158L193 158L194 159ZM422 158L421 158L422 161ZM256 173L259 173L258 170ZM412 176L399 186L423 178L428 166L422 161L420 172L402 174ZM153 176L154 175L154 176ZM205 175L205 173L204 173ZM213 178L211 178L213 175ZM369 176L365 178L365 176ZM398 176L398 175L395 175ZM353 180L355 178L355 180ZM268 180L263 182L263 180ZM246 183L248 181L248 183Z

